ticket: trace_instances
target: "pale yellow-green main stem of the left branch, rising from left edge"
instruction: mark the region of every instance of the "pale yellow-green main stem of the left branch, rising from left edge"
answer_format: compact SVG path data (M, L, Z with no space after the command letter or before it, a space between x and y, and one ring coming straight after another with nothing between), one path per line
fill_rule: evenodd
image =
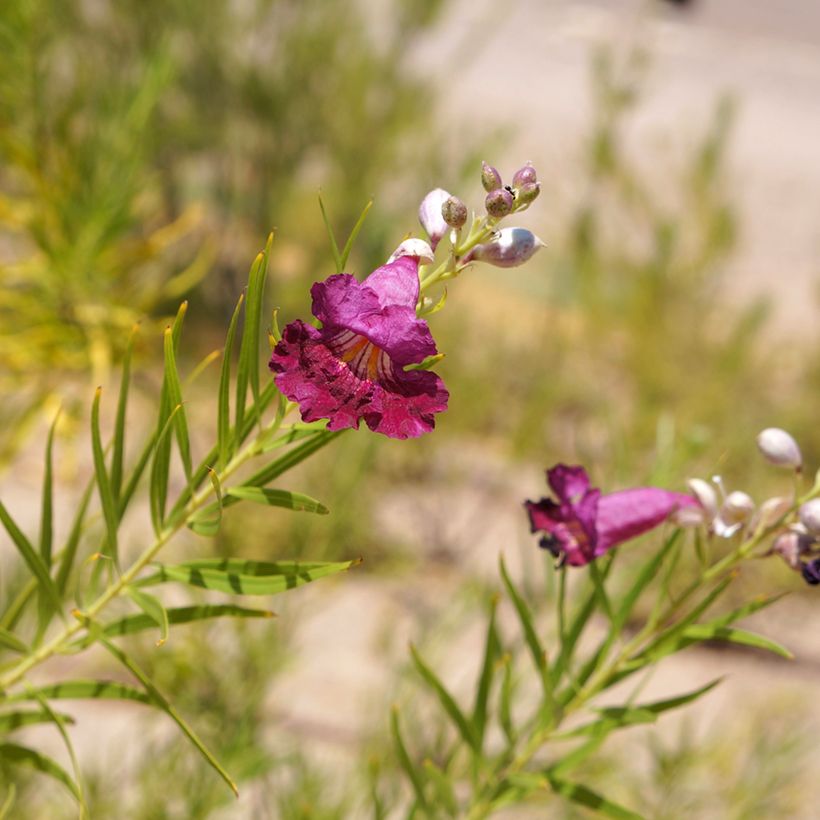
M220 483L229 478L242 464L256 455L255 450L256 438L249 442L225 469L218 474ZM65 626L65 628L55 635L50 641L44 643L37 650L32 652L25 658L22 658L19 663L9 669L5 674L0 675L0 692L5 691L8 687L19 683L25 675L35 666L47 661L53 655L59 654L71 639L78 633L85 629L85 624L89 620L93 620L111 601L117 598L128 584L136 579L139 573L156 557L159 551L174 537L181 529L185 527L187 520L197 510L202 507L205 502L209 501L214 494L213 487L208 484L203 490L197 493L188 505L185 507L185 512L175 518L175 523L167 526L156 537L154 542L145 549L136 561L122 574L116 581L108 586L102 594L86 607L81 614L81 618L76 619Z

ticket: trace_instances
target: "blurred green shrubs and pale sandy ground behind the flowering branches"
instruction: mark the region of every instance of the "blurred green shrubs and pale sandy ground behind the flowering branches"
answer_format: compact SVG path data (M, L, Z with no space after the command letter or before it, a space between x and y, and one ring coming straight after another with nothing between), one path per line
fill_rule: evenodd
M217 539L225 555L364 566L274 601L273 625L142 647L241 800L161 718L97 705L77 712L95 817L372 816L370 788L389 798L398 782L389 706L418 696L408 639L467 685L498 552L543 575L520 504L544 492L545 466L583 462L607 489L720 473L762 500L787 489L755 452L772 425L818 466L820 8L4 0L0 490L23 521L37 519L57 402L61 503L74 503L93 387L118 383L135 322L148 402L164 321L189 299L190 372L221 346L271 228L269 307L307 314L310 284L333 272L320 188L340 235L375 199L351 258L363 276L418 231L430 188L480 209L481 159L505 178L535 164L542 193L522 224L547 248L465 274L432 318L451 392L436 432L344 436L289 477L332 515L243 507ZM190 401L208 429L216 378ZM798 662L670 662L658 691L729 679L596 764L602 790L647 816L816 816L816 595L771 562L746 574L744 594L792 590L758 628ZM61 794L40 780L29 794L32 817L62 816Z

